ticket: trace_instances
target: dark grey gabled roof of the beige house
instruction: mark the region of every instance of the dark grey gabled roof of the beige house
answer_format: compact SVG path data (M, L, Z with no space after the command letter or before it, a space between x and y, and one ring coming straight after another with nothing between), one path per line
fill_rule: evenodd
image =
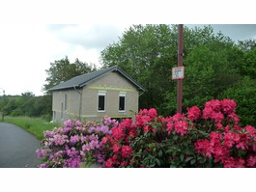
M61 82L60 84L54 86L53 88L50 88L48 91L59 91L59 90L74 89L74 88L79 89L112 71L119 72L131 84L133 84L139 91L143 91L143 92L145 91L145 89L141 87L134 79L132 79L124 70L118 68L117 66L114 66L108 69L100 69L94 72L75 76L68 81Z

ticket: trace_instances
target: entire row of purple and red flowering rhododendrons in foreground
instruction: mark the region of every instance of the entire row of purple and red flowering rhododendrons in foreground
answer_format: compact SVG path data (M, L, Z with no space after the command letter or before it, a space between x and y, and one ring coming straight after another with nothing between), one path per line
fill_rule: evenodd
M205 108L159 117L140 110L135 122L68 121L46 131L40 167L255 167L256 130L240 126L234 100L210 100Z

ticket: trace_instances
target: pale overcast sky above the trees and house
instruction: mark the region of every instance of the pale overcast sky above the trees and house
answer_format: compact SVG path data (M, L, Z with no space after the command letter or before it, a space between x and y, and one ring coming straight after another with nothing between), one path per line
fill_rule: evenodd
M194 27L195 25L188 25ZM203 26L203 25L196 25ZM234 41L256 39L256 25L212 25ZM100 67L100 51L129 25L0 25L0 88L7 95L43 95L45 69L66 55ZM0 89L0 96L3 94Z

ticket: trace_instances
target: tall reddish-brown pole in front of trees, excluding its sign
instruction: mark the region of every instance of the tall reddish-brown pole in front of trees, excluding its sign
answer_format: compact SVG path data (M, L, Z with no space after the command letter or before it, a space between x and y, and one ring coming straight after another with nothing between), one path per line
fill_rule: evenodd
M179 24L178 67L184 66L184 25ZM177 113L183 113L183 79L178 79Z

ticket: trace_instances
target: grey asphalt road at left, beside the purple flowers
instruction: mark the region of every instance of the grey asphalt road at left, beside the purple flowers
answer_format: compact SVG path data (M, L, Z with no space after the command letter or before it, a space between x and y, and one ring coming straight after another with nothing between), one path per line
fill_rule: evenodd
M26 130L0 123L0 168L36 168L40 141Z

